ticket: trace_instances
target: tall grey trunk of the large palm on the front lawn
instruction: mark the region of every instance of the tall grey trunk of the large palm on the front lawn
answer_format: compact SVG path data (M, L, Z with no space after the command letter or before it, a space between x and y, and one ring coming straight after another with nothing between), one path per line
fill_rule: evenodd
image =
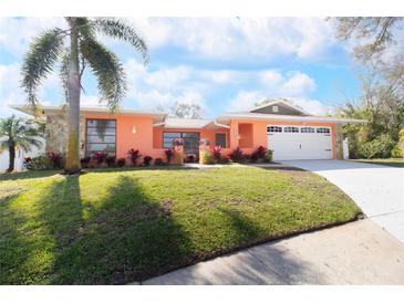
M75 18L66 18L71 28L70 62L68 80L68 156L64 167L66 174L80 173L80 71L79 71L79 30Z

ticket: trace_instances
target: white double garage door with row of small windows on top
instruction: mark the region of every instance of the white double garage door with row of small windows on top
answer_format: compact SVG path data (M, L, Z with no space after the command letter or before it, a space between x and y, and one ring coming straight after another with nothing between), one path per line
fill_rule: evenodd
M269 125L273 160L332 159L331 127Z

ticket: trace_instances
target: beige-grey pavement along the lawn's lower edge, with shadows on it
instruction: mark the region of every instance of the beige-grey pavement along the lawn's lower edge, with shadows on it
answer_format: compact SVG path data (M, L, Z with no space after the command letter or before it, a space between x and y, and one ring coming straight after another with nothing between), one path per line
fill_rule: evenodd
M404 284L404 244L366 219L245 249L142 284Z

